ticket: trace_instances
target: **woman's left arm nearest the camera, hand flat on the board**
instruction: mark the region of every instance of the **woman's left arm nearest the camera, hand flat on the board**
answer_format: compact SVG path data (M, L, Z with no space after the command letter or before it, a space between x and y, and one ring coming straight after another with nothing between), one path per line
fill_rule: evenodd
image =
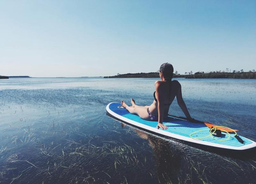
M164 120L164 99L163 99L163 89L161 86L160 81L156 81L155 83L156 86L156 99L157 99L157 110L158 110L158 124L156 126L157 129L167 129L163 124Z

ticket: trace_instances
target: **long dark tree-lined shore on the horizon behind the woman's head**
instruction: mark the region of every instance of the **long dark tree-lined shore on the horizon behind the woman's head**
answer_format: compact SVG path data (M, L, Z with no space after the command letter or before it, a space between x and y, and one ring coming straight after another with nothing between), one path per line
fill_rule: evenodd
M115 76L107 76L104 78L159 78L158 72L150 72L150 73L127 73L127 74L117 74ZM233 72L228 71L211 71L211 72L201 72L198 71L196 73L185 72L184 75L175 71L173 73L173 78L242 78L242 79L256 79L256 71L249 70L248 72L244 72L244 70L233 70Z

